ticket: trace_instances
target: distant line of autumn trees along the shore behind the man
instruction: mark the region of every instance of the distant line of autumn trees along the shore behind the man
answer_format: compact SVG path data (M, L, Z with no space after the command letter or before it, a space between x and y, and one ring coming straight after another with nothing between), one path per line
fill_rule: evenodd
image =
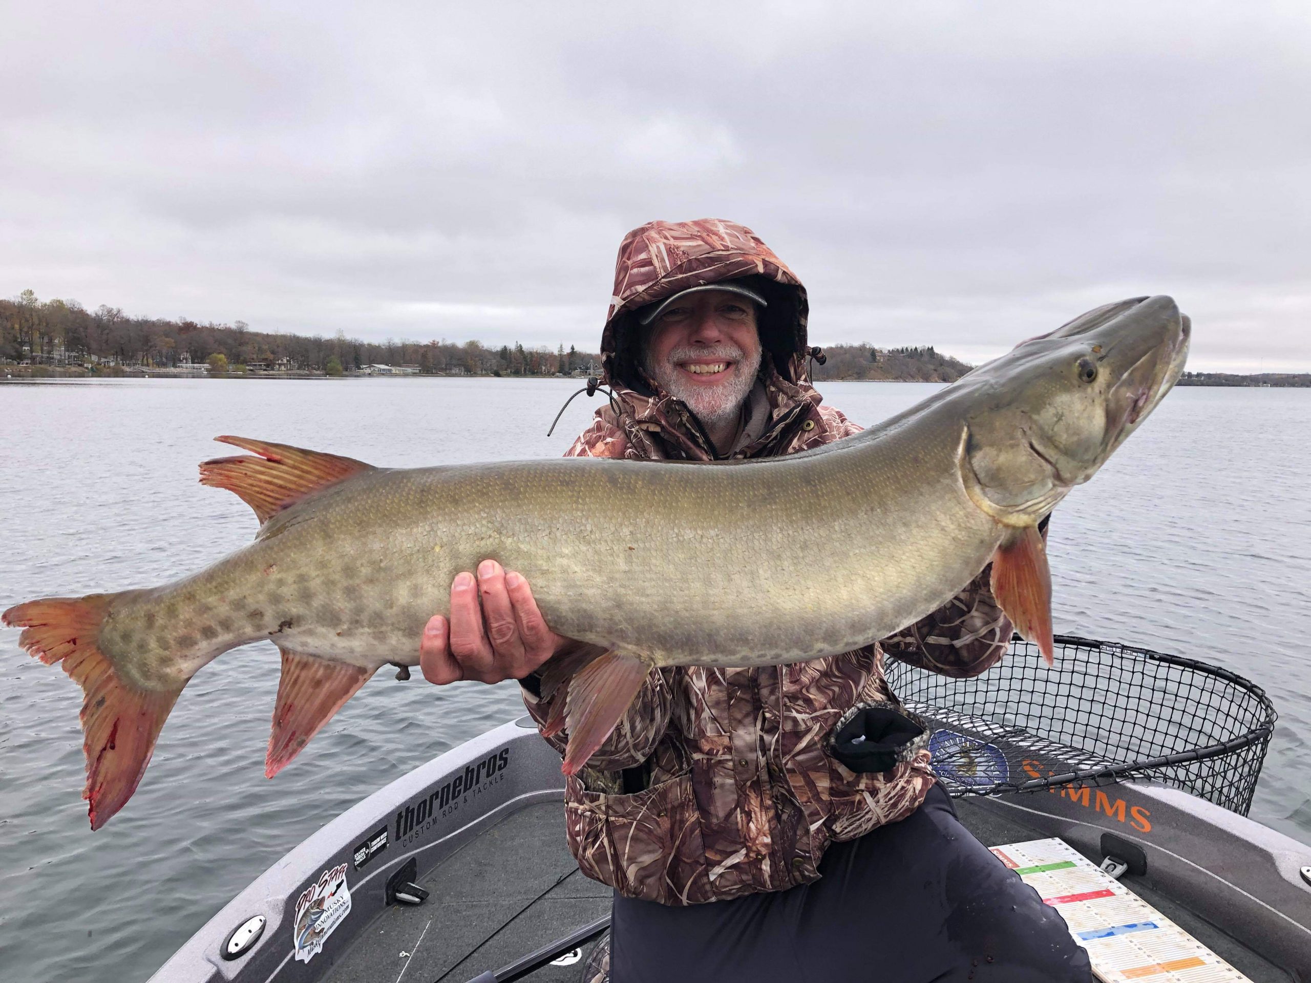
M886 379L949 383L970 366L928 347L876 349L831 345L825 362L810 363L815 381ZM591 351L477 341L366 342L340 333L333 338L256 332L244 321L199 324L187 318L130 317L101 304L85 309L76 300L39 300L25 290L0 300L0 362L34 366L83 366L90 371L208 366L218 372L291 371L342 375L372 364L410 367L421 374L541 376L597 372Z

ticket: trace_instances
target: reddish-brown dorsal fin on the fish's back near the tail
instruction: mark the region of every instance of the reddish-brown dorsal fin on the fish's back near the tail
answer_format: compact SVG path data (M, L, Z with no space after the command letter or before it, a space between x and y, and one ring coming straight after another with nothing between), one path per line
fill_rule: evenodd
M215 457L201 465L201 484L225 488L254 509L261 524L296 499L351 474L378 471L372 464L334 453L307 451L288 444L250 440L244 436L216 436L219 443L233 444L260 455L249 457Z

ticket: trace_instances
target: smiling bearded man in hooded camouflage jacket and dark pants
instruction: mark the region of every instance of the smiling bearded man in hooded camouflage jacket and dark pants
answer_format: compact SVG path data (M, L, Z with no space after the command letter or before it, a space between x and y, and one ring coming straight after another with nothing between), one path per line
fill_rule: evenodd
M737 461L859 433L809 384L806 313L800 280L750 229L635 229L602 334L614 400L566 456ZM800 535L793 549L806 562ZM732 543L708 543L705 562L735 562ZM891 741L886 760L843 754L853 723L857 742L889 721L922 730L884 680L885 651L950 676L1002 658L1012 625L990 577L853 651L645 671L566 785L569 845L616 891L615 983L1091 979L1055 910L957 822L927 734ZM485 560L455 578L421 665L438 684L518 679L564 752L568 688L543 683L589 647L551 630L520 573Z

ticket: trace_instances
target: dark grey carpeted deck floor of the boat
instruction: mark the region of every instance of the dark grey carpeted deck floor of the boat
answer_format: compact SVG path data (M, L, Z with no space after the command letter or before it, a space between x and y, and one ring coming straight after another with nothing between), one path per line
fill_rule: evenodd
M961 822L986 845L1044 839L995 809L962 800ZM589 881L565 847L560 802L511 813L425 872L431 895L393 904L363 929L324 978L330 983L467 983L604 915L611 891ZM1285 971L1126 874L1122 883L1227 959L1253 983L1294 983ZM583 955L590 946L585 948ZM576 983L582 962L545 966L534 983Z

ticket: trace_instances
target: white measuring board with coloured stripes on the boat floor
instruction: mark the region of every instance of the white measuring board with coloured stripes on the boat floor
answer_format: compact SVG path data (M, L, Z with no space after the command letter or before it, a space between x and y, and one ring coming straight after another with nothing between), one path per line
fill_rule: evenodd
M1251 983L1117 879L1061 840L992 847L1065 917L1105 983Z

